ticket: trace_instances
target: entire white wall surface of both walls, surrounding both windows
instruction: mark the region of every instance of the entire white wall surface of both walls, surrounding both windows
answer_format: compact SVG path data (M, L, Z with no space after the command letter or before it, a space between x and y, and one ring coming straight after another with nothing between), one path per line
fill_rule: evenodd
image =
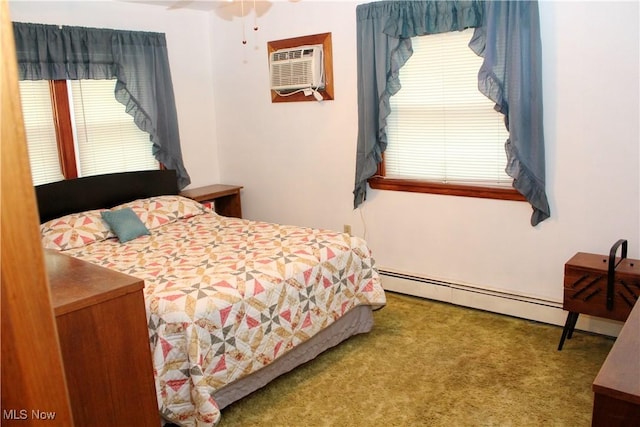
M639 4L542 1L551 218L526 203L370 191L352 209L356 1L276 1L242 22L122 2L10 2L19 21L166 32L194 185L241 184L246 217L366 237L378 265L551 301L575 252L640 258ZM252 2L245 2L251 4ZM361 2L360 2L361 3ZM267 42L332 33L335 100L271 103Z

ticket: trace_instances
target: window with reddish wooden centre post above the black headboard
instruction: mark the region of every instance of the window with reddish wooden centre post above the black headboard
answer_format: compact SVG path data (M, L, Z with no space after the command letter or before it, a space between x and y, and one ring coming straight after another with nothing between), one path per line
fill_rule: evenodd
M34 185L159 168L149 134L115 99L115 82L20 82Z

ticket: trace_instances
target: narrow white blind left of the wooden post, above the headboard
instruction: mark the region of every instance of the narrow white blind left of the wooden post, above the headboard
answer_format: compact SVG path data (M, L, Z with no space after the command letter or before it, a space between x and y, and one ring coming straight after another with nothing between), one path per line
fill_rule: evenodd
M47 80L20 81L22 115L33 185L64 179Z

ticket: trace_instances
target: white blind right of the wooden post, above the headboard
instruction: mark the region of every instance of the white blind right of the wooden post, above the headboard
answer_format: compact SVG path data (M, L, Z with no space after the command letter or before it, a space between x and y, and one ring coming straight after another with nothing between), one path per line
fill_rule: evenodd
M158 169L149 134L114 96L115 80L69 80L80 176Z

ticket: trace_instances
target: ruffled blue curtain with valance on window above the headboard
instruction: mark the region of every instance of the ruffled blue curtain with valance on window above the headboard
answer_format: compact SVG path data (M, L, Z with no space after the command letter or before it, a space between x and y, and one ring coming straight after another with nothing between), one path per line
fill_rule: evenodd
M149 133L155 158L191 182L162 33L13 23L20 80L116 79L115 97Z

